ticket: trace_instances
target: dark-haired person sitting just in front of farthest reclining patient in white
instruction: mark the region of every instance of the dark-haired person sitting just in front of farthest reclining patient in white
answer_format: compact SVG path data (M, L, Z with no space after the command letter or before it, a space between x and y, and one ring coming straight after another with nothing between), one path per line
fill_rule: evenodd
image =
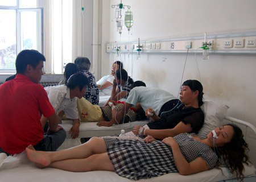
M130 76L128 76L125 69L118 69L118 71L115 72L115 79L113 82L111 96L105 105L107 105L111 100L113 101L126 100L126 97L129 95L129 92L131 90L132 84L133 84L133 79Z

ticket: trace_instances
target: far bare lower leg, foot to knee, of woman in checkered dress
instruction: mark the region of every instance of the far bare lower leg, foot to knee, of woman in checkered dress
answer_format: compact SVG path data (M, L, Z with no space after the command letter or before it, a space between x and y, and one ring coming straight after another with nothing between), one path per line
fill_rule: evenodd
M106 152L106 143L103 138L93 137L80 146L55 152L35 151L31 147L26 148L28 159L31 162L48 166L52 162L65 159L84 159L93 154Z

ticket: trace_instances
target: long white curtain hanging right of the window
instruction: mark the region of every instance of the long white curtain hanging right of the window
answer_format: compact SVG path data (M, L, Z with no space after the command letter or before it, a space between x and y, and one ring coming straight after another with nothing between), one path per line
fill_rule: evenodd
M73 63L76 57L84 56L90 60L90 71L97 76L94 69L98 67L98 59L93 60L93 28L98 30L93 27L95 1L98 0L44 1L45 73L63 73L64 63Z

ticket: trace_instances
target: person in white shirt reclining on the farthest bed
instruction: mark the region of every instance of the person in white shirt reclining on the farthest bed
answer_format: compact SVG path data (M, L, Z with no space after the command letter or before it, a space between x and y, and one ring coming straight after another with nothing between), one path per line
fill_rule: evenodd
M110 75L106 75L96 82L98 89L100 90L100 96L111 96L115 72L119 68L122 69L122 63L120 61L115 61L112 65Z

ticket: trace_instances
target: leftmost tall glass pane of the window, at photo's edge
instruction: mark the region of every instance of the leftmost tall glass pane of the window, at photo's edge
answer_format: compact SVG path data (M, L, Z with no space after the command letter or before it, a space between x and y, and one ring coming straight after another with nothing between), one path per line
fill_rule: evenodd
M16 10L0 9L0 69L15 69Z

